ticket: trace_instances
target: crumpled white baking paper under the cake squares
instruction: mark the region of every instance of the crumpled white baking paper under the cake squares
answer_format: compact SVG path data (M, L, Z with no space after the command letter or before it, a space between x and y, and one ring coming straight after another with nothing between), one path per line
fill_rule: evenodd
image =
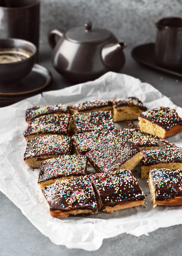
M148 83L125 74L108 72L95 81L74 85L62 90L44 92L11 106L0 109L0 190L21 209L29 221L57 245L80 248L88 251L99 249L104 238L128 233L134 236L147 235L160 227L182 223L182 206L155 207L151 203L149 187L134 171L144 190L144 206L98 213L87 217L57 219L50 216L42 193L37 185L38 169L24 164L26 141L25 112L35 105L79 103L89 99L116 99L135 96L148 108L158 105L175 108L182 117L182 108L175 106ZM182 146L182 132L169 138Z

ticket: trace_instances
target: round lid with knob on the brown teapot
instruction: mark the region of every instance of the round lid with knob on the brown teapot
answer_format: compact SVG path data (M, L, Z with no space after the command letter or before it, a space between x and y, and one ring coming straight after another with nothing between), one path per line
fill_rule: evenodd
M100 43L109 39L112 34L107 29L92 28L92 23L86 22L85 27L70 29L65 36L75 43Z

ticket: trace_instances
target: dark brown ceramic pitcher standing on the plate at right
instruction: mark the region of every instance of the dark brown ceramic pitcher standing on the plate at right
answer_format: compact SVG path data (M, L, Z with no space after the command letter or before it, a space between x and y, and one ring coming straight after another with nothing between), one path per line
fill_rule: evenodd
M156 63L170 70L182 71L182 18L163 18L156 27Z

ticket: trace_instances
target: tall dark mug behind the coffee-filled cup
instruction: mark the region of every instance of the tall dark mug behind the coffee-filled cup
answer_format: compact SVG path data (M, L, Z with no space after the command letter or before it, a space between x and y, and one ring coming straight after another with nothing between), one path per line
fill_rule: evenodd
M0 0L0 38L20 38L39 47L39 0Z

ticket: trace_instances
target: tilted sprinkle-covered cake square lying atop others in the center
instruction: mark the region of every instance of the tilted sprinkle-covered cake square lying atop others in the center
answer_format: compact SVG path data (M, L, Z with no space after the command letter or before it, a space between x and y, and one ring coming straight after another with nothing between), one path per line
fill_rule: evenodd
M113 130L86 153L89 164L96 172L132 170L140 163L143 157L140 148L132 142L127 142L127 137L119 136L118 132Z

